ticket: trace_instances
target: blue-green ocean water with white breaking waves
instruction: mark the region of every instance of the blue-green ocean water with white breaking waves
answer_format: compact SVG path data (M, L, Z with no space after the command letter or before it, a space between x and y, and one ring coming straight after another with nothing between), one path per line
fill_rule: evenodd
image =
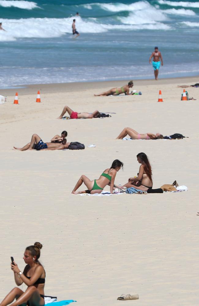
M0 17L0 88L153 78L155 46L160 78L199 75L196 1L0 0Z

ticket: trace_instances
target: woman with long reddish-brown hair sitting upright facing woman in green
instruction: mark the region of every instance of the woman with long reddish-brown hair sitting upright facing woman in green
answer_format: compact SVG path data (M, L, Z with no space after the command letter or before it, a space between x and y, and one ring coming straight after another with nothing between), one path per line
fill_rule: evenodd
M137 161L141 164L137 177L130 177L128 183L122 187L134 187L136 189L147 191L153 186L151 165L147 155L143 152L137 154Z

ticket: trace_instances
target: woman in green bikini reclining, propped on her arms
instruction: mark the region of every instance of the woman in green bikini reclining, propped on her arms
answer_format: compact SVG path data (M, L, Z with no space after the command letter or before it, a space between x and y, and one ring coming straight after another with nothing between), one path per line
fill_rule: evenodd
M85 175L81 175L80 179L77 181L77 184L73 188L72 193L74 194L80 194L80 193L101 193L103 188L106 185L110 186L110 192L113 193L114 188L114 181L116 173L121 169L123 169L123 162L120 162L120 160L115 159L111 165L111 168L108 168L104 170L104 172L100 175L98 180L89 180L88 177ZM88 190L84 191L76 191L82 184L86 185Z

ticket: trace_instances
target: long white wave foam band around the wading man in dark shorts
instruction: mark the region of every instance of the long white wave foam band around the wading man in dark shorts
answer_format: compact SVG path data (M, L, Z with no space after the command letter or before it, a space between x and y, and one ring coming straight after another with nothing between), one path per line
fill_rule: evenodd
M3 19L3 27L6 31L1 31L1 41L12 41L16 38L52 38L60 37L65 34L72 34L72 22L70 18L28 18L28 19ZM151 24L99 24L95 20L84 21L81 17L76 19L77 31L80 33L103 33L116 29L165 29L170 27L163 23L153 22Z

